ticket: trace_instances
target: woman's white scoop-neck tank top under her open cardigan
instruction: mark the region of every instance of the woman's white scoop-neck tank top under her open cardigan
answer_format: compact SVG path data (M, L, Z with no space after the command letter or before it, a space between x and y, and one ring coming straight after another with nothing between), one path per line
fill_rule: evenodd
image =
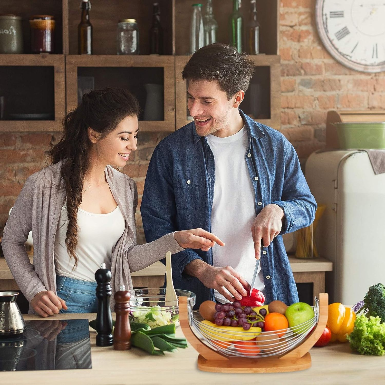
M105 263L111 268L112 251L121 238L126 223L119 206L107 214L88 213L80 208L77 212L76 256L75 260L69 257L65 238L68 228L67 206L64 204L60 213L59 223L55 235L54 259L57 275L74 278L75 280L95 282L95 271Z

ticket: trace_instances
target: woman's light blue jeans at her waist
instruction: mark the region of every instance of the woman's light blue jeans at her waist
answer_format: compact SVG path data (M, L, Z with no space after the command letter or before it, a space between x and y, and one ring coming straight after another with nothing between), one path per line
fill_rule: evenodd
M68 309L60 313L96 313L96 282L74 280L74 278L56 276L57 295L65 301Z

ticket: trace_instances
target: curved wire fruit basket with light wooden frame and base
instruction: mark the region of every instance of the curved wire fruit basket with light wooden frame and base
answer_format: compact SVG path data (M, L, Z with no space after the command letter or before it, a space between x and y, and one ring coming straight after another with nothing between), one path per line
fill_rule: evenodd
M206 372L292 372L311 366L309 350L323 333L328 319L328 294L315 299L315 316L295 328L245 331L207 325L192 302L179 297L182 331L199 352L198 368ZM232 330L234 329L234 331Z

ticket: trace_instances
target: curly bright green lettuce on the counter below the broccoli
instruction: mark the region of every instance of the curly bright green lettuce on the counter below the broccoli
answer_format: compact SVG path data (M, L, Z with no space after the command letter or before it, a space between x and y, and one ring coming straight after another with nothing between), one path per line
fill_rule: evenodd
M383 356L385 353L385 323L380 318L359 315L352 333L346 336L350 347L360 354Z

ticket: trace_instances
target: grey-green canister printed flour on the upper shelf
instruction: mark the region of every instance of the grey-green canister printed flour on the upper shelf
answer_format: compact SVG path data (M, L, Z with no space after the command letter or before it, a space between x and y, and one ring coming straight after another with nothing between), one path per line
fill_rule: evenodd
M16 15L0 15L0 54L22 53L22 18Z

